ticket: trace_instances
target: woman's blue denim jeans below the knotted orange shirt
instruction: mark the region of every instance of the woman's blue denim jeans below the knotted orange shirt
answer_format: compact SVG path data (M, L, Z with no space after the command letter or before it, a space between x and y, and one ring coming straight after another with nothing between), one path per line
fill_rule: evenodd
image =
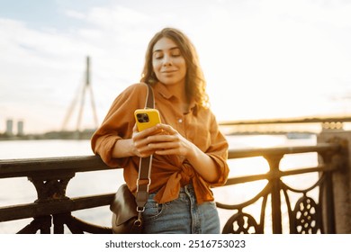
M172 202L157 203L156 193L150 193L145 211L146 234L219 234L220 218L215 202L197 204L193 185L181 188L179 197Z

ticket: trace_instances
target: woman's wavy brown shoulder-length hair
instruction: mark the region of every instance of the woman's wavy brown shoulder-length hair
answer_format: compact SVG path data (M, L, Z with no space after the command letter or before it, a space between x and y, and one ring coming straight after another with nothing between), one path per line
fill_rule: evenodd
M203 108L209 107L209 97L206 93L206 81L200 67L199 57L196 49L184 32L175 28L164 28L158 31L148 42L148 49L145 55L145 64L140 81L149 85L157 83L157 76L152 67L152 50L158 40L166 37L173 40L179 47L186 64L185 93L188 100L194 101Z

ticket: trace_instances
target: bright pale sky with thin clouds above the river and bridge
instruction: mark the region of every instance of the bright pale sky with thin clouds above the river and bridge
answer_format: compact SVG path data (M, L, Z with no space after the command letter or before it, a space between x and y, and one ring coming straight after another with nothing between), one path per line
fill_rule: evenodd
M351 1L0 0L0 133L9 119L61 130L86 57L101 123L164 27L193 41L218 121L351 114ZM88 94L82 129L94 127Z

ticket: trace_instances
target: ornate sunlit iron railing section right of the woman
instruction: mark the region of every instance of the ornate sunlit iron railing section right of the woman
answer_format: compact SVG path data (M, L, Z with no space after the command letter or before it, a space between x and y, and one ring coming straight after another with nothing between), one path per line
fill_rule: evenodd
M265 188L253 198L239 204L229 205L217 202L219 208L237 211L225 224L223 233L264 233L266 204L268 196L271 198L272 209L272 232L282 233L282 194L288 209L290 233L335 233L334 203L332 173L342 167L341 159L336 157L342 148L338 144L319 144L313 147L286 147L265 148L255 150L237 150L229 153L229 158L238 157L264 157L269 165L269 171L261 175L247 175L243 177L229 178L229 184L241 184L257 180L267 180ZM320 162L315 167L303 167L289 171L280 169L280 161L284 155L317 152ZM338 161L337 161L338 160ZM290 175L302 175L307 173L320 173L318 181L304 190L294 189L284 184L282 178ZM319 197L313 199L309 192L318 188ZM301 193L300 199L292 205L289 192ZM259 221L255 220L244 209L254 202L262 199L261 214Z

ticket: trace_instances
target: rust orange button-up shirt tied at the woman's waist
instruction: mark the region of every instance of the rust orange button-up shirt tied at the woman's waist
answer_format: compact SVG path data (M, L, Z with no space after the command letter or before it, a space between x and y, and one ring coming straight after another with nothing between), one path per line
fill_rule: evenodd
M149 192L157 192L157 202L170 202L178 197L181 186L193 184L197 202L213 201L211 185L221 185L227 181L228 143L220 133L217 121L210 109L192 103L190 112L179 112L173 105L175 99L160 83L153 86L155 108L163 123L171 125L184 138L190 140L213 159L218 173L218 181L208 183L196 173L184 157L154 155L151 168ZM112 148L119 139L130 139L135 124L134 111L144 108L147 95L145 84L130 85L112 103L101 127L94 132L92 148L108 166L123 167L124 180L132 193L136 192L139 171L139 157L112 157ZM203 166L202 169L206 169Z

